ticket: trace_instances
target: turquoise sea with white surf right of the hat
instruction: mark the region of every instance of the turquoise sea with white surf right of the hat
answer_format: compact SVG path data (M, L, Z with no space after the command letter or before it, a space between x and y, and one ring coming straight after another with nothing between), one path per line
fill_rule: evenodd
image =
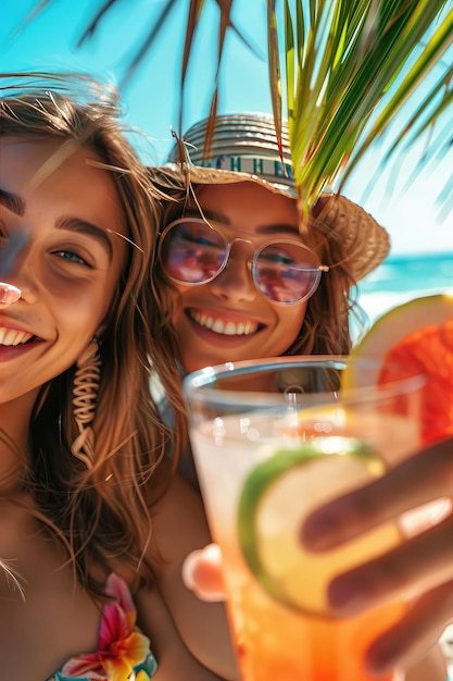
M453 294L453 252L395 255L358 282L358 302L374 322L407 300L446 290Z

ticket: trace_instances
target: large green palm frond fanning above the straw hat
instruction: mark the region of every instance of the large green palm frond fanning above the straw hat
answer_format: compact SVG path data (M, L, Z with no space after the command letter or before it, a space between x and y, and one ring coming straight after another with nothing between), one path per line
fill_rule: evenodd
M299 23L297 72L287 81L287 100L295 183L301 206L307 211L326 185L345 181L432 66L439 63L452 41L453 10L432 32L423 53L407 66L442 12L443 1L312 0L309 8L302 3L302 18L300 9L298 12L300 4L297 3L295 11ZM288 1L285 14L285 25L291 27L294 10ZM287 62L294 51L295 40L286 37ZM399 83L405 67L408 71ZM450 76L449 71L442 82ZM428 103L432 103L439 87L438 83L435 91L419 104L411 119L412 125ZM444 96L431 111L431 123L449 100L449 96ZM393 150L404 139L408 129L406 125L404 128ZM420 132L421 128L418 134Z

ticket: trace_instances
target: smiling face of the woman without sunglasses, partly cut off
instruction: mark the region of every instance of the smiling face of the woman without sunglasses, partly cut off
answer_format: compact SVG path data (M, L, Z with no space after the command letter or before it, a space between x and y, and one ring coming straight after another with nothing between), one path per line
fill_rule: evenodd
M0 309L0 403L37 392L77 360L124 265L114 233L125 235L125 218L110 173L75 147L46 172L62 144L0 137L0 280L22 292Z

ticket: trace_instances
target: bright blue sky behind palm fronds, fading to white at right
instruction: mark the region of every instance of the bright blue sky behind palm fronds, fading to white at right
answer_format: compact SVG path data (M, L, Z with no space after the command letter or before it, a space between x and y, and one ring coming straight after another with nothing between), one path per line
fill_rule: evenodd
M147 34L162 8L160 0L122 0L109 12L93 39L77 49L77 39L102 4L101 0L53 0L40 15L20 30L23 20L38 0L3 0L0 22L1 70L83 71L119 82L134 49ZM237 2L236 22L256 45L257 54L247 49L234 35L227 42L225 69L221 73L221 112L270 111L265 53L265 3L263 0ZM189 70L190 98L186 100L184 127L203 117L209 108L213 85L212 55L216 49L217 14L213 0L197 39L197 50ZM126 117L150 138L147 160L162 162L171 146L171 126L177 127L179 64L184 41L187 1L180 0L169 17L165 33L152 53L139 67L136 77L123 91ZM451 112L450 112L451 116ZM428 165L408 186L421 146L387 166L370 193L368 187L379 162L379 151L368 154L344 194L366 208L390 232L392 252L452 251L453 213L437 219L439 193L453 171L452 152L437 166ZM391 191L390 191L391 189Z

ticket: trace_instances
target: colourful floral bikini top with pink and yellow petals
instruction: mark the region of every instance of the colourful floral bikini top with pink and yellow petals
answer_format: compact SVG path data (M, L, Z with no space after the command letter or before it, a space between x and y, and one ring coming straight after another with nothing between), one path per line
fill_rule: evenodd
M136 626L126 583L111 574L105 592L115 600L103 607L98 652L73 657L48 681L148 681L154 676L158 663Z

